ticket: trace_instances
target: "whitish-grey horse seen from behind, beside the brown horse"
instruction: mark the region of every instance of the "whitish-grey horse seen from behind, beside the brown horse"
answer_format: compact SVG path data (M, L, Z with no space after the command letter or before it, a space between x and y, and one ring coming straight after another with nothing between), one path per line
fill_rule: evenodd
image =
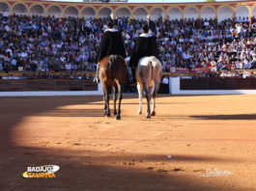
M139 111L142 114L142 97L143 90L147 98L147 118L156 116L156 94L159 89L161 81L161 63L155 56L143 57L139 60L138 67L136 68L137 89L139 94ZM153 95L152 112L150 109L151 97Z

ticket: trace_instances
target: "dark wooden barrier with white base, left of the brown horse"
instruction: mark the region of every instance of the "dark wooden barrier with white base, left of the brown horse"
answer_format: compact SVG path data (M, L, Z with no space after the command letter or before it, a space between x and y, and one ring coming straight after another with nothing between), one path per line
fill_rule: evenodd
M0 80L0 96L103 95L101 84L74 80Z

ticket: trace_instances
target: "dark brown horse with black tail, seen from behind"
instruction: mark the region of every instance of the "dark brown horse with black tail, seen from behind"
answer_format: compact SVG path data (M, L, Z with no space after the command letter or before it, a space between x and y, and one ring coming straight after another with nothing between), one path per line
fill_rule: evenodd
M112 87L114 110L113 114L117 115L116 119L121 120L121 100L123 98L124 85L128 82L127 63L122 56L110 55L100 60L99 70L100 82L102 84L104 99L104 116L110 117L109 109L109 91ZM118 110L116 110L116 100L118 92Z

